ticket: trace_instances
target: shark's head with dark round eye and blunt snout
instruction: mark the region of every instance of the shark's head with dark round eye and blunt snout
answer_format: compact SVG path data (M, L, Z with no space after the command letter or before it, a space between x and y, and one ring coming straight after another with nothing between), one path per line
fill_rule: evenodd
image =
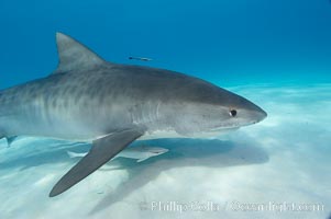
M174 128L180 135L217 136L224 130L258 123L267 116L249 100L202 80L192 79L177 92L172 103L173 116L168 114L167 118L172 117Z

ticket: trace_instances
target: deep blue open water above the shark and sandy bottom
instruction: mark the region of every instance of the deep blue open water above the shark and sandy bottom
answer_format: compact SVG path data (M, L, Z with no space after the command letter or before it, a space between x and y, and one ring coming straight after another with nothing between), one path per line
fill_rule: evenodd
M331 82L328 0L2 0L0 25L0 88L56 67L55 32L225 85Z

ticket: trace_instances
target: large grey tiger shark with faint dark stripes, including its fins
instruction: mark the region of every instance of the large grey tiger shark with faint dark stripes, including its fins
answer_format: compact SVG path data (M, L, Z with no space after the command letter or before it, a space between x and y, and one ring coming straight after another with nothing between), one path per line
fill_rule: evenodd
M56 33L49 76L0 91L0 138L36 136L91 142L53 187L62 194L137 139L217 136L261 122L249 100L184 73L113 64Z

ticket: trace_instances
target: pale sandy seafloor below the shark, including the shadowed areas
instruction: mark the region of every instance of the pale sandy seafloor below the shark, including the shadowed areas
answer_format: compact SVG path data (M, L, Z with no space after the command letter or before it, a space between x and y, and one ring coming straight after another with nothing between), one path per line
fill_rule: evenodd
M51 188L78 161L66 150L88 146L2 141L0 218L327 218L331 84L228 89L262 106L267 119L213 140L139 141L170 151L142 163L112 161L55 198ZM299 209L304 204L316 208Z

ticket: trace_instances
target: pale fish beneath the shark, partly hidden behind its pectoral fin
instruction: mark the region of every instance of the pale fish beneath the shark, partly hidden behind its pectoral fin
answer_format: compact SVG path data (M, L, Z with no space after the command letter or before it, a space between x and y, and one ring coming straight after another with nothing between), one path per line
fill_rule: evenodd
M161 155L168 151L169 150L166 148L158 148L158 147L147 147L147 146L129 147L122 150L121 152L119 152L111 160L114 160L117 158L129 158L129 159L134 159L136 160L136 162L140 163L150 158ZM67 153L70 158L84 158L85 155L87 155L88 152L77 153L73 151L67 151Z

